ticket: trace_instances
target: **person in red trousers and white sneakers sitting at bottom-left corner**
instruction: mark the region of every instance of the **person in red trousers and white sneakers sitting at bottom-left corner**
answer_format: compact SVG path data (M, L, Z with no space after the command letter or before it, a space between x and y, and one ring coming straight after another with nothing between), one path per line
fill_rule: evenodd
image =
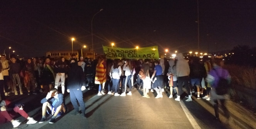
M26 119L28 119L27 124L35 124L37 121L35 121L32 117L29 117L28 114L23 110L24 105L18 104L15 105L13 109L8 108L10 105L10 100L1 100L0 107L0 124L6 123L7 121L10 121L13 125L13 128L16 128L20 125L20 122L18 120L14 120L13 117L15 114L19 113ZM7 120L7 121L6 121Z

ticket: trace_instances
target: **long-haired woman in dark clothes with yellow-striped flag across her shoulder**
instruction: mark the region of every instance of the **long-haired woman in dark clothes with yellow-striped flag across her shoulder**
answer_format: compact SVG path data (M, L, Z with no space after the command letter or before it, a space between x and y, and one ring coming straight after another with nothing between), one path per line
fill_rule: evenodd
M55 74L53 71L53 66L51 64L51 59L46 57L45 63L43 65L42 71L42 86L46 86L44 92L47 93L52 89L52 84L54 83Z

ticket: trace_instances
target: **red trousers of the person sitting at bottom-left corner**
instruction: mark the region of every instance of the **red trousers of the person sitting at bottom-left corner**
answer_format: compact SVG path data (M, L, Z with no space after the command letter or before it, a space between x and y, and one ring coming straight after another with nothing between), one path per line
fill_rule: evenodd
M18 107L15 107L10 113L7 111L0 111L0 124L6 123L7 121L12 121L13 117L15 117L17 113L26 119L28 118L28 114L24 110L19 110Z

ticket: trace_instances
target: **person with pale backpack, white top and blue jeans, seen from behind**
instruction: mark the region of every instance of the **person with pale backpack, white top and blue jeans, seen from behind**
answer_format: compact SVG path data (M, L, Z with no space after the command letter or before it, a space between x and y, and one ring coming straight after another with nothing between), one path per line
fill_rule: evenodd
M118 91L120 76L122 75L122 69L121 69L121 66L118 65L118 60L116 59L114 60L114 64L110 68L109 75L112 78L112 84L113 84L112 93L114 93L115 96L119 96L117 91Z

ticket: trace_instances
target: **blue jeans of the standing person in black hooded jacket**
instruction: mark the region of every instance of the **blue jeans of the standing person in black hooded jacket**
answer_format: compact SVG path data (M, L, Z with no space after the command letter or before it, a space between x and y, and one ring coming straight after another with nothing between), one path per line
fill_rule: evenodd
M85 113L85 104L83 99L83 92L81 89L69 89L71 103L75 109L75 111L79 112L79 106L77 105L77 101L81 107L82 113ZM76 100L77 99L77 100Z

